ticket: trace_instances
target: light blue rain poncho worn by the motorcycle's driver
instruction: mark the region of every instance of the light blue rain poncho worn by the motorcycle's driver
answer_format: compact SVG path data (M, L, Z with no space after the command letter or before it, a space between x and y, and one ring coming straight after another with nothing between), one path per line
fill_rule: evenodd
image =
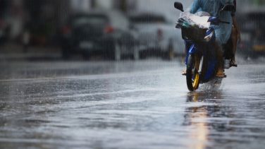
M218 26L214 26L218 44L226 44L232 32L231 12L226 11L219 14L225 4L233 4L233 0L195 0L190 8L190 13L205 11L211 16L218 16L221 20L230 22L230 24L221 23Z

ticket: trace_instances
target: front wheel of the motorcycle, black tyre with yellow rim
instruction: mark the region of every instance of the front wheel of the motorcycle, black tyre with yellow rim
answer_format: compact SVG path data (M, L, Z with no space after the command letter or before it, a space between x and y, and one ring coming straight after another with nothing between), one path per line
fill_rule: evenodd
M201 60L196 54L190 55L187 60L187 88L190 91L197 90L199 88L200 76L199 67Z

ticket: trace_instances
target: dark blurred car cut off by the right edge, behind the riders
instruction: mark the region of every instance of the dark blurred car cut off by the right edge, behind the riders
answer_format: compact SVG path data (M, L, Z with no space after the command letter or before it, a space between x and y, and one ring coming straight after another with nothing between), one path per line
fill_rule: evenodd
M247 56L265 56L265 11L247 11L239 15L242 42L239 52Z

